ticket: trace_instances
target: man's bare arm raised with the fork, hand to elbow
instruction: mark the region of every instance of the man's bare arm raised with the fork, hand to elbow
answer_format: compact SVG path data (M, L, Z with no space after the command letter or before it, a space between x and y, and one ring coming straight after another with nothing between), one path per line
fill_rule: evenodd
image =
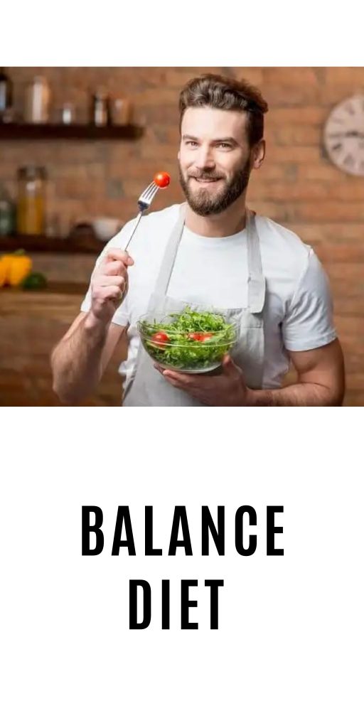
M127 294L127 253L110 248L91 278L91 307L81 313L52 351L53 389L65 404L78 404L98 385L125 329L112 323Z

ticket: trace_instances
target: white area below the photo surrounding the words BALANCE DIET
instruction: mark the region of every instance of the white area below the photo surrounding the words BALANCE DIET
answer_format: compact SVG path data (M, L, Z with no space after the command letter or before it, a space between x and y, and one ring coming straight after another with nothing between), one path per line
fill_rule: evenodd
M193 422L183 408L13 414L1 484L2 725L363 725L360 411L201 408ZM245 504L258 515L250 557L234 549ZM100 556L81 555L82 505L103 509ZM130 507L135 557L111 556L118 505ZM143 555L145 505L162 556ZM186 506L191 557L167 555L175 505ZM214 516L226 507L225 556L213 542L201 555L201 505ZM266 505L284 506L284 556L266 556ZM130 578L151 583L146 630L129 630ZM199 581L198 630L181 630L181 578ZM207 578L224 580L215 631Z

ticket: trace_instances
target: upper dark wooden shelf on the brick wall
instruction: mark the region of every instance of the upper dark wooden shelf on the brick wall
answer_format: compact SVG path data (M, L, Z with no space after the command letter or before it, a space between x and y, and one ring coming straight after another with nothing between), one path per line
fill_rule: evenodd
M83 139L84 141L97 141L98 139L139 139L143 134L143 127L136 124L123 126L96 127L93 124L1 124L1 139L31 140L57 140L57 139Z

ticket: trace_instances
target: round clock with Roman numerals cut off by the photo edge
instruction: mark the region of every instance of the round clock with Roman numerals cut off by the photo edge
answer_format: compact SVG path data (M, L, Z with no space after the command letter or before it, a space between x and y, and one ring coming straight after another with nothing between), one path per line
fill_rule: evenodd
M364 95L347 98L333 108L325 124L324 144L336 167L364 177Z

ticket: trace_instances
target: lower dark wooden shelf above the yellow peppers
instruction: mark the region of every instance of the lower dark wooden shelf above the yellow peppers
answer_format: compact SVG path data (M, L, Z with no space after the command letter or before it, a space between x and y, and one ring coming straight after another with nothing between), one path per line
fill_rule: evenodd
M0 253L14 253L23 248L26 253L92 253L98 255L106 242L95 237L47 237L46 235L0 236Z

